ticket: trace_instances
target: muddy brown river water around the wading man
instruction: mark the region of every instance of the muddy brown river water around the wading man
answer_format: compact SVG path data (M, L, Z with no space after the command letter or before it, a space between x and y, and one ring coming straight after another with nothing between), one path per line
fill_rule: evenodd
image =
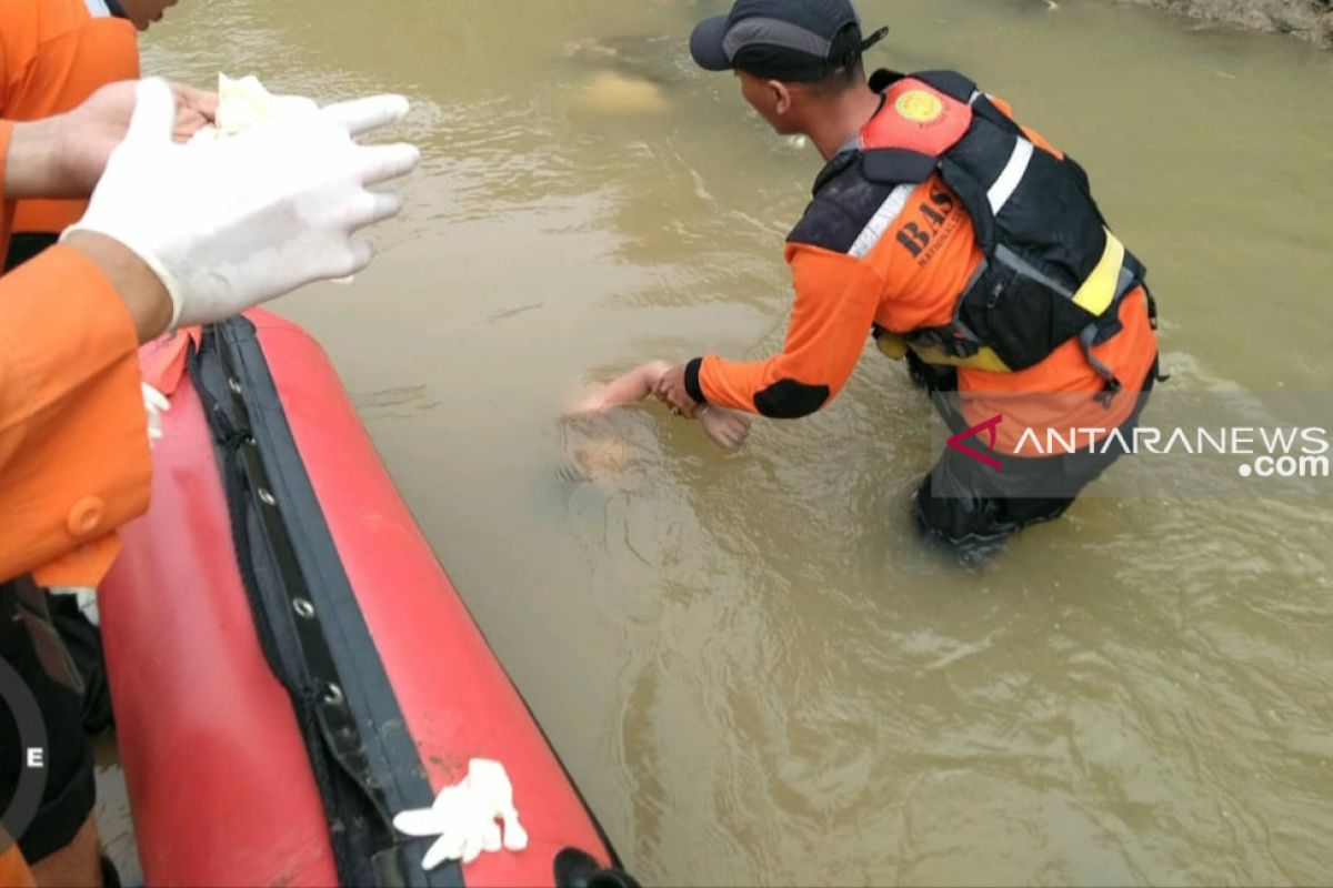
M145 68L412 97L383 256L281 310L645 884L1326 881L1329 498L1089 498L964 571L912 533L925 407L870 351L738 455L660 409L559 419L781 341L820 161L690 67L721 9L188 0ZM861 9L872 61L961 68L1080 157L1173 386L1329 389L1333 55L1090 0Z

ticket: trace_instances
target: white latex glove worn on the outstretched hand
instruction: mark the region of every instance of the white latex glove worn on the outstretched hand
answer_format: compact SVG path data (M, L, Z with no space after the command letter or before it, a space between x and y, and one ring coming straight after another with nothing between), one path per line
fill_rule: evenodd
M143 258L171 294L172 328L347 277L375 256L356 232L401 208L396 193L368 188L420 160L412 145L363 146L352 137L407 108L401 96L376 96L185 146L172 141L167 84L144 80L125 140L67 234L99 232Z

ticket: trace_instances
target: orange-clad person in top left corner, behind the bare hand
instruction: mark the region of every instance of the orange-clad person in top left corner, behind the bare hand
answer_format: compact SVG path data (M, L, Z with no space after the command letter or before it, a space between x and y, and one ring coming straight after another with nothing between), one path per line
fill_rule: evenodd
M100 87L139 79L137 31L176 0L7 0L0 7L0 117L41 120L77 108ZM51 246L87 201L19 201L5 269Z

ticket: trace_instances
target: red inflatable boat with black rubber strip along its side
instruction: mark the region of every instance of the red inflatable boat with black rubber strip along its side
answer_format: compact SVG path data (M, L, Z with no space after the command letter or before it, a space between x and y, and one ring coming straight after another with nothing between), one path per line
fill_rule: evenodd
M148 346L152 510L99 595L149 885L631 885L319 345L263 312ZM524 851L396 833L504 764Z

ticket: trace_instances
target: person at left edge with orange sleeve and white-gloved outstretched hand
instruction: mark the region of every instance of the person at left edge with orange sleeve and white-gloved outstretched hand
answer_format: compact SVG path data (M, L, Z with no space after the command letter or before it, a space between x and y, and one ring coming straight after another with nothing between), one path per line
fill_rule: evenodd
M43 643L33 616L41 584L96 584L115 556L115 529L147 509L137 346L364 268L373 248L356 233L400 208L395 193L369 189L419 160L411 145L353 141L405 113L397 96L191 150L177 137L213 109L199 96L161 81L113 84L68 114L0 122L5 197L87 196L96 184L60 245L0 278L0 654L37 699L52 740L36 819L5 827L36 861L37 884L113 876L99 867L79 698L61 648ZM308 206L327 212L297 210ZM273 254L284 260L265 258ZM16 731L0 706L5 808L25 774ZM12 849L0 853L19 872Z

